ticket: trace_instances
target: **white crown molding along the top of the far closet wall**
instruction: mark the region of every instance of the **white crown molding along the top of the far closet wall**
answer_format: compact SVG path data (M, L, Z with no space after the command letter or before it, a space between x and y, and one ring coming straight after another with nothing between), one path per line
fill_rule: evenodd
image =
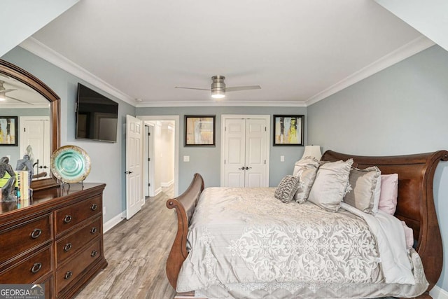
M241 107L241 106L256 106L256 107L306 107L304 102L275 102L275 101L258 101L258 102L249 102L249 101L226 101L222 99L221 101L165 101L165 102L139 102L135 105L137 108L141 107L219 107L219 106L232 106L232 107Z

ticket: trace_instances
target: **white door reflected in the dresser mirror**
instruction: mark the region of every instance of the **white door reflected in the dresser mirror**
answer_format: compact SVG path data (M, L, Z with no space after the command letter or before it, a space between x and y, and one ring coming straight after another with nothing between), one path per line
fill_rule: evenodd
M48 116L20 117L20 158L32 148L34 174L39 178L48 178L50 173L50 118ZM13 165L15 167L15 165Z

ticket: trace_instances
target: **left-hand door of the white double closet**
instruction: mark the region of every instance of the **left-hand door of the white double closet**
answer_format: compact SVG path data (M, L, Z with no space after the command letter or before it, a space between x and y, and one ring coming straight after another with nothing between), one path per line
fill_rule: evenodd
M224 186L244 187L246 120L225 120Z

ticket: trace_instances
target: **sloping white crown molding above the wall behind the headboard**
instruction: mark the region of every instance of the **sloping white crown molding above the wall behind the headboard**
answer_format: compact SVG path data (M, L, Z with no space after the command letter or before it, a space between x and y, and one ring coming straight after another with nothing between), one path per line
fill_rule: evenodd
M330 97L330 95L343 90L344 88L348 88L354 83L372 76L373 74L382 71L383 69L391 67L393 64L405 60L407 57L411 57L412 55L415 55L416 53L426 50L427 48L434 45L435 43L426 38L426 36L419 36L418 38L401 46L397 50L394 50L391 53L388 53L387 55L381 57L379 60L372 62L371 64L367 65L367 67L364 67L363 69L360 69L359 71L356 71L350 76L344 78L342 81L339 81L338 83L331 85L329 88L326 88L325 90L310 97L309 99L306 99L305 104L306 106L315 104L322 99Z

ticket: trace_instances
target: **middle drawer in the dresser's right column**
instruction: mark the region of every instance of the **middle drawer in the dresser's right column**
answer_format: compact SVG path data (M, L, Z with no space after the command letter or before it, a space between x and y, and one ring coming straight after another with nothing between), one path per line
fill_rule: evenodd
M79 228L73 234L63 237L56 242L56 260L57 267L59 263L62 263L66 258L76 254L81 247L90 242L92 239L101 234L102 218L99 217L96 220Z

